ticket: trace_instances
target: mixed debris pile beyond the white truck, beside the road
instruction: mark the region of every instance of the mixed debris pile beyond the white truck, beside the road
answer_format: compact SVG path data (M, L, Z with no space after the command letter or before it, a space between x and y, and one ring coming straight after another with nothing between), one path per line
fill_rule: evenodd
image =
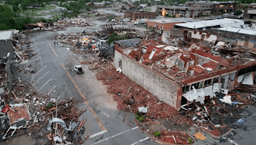
M102 31L59 34L56 39L67 50L81 54L76 59L81 64L88 64L89 69L97 69L113 57L114 47L106 43L107 34Z

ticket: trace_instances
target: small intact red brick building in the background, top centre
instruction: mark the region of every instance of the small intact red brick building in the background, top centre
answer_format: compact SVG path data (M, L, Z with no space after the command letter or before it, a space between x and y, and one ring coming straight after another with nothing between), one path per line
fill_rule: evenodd
M124 17L130 20L137 20L139 18L154 19L156 18L156 13L148 11L125 12Z

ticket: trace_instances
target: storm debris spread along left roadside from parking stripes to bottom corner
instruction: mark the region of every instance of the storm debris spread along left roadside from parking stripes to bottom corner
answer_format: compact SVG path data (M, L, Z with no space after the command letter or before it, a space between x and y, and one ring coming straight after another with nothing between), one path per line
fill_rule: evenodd
M9 66L9 63L6 65ZM0 141L10 141L20 135L30 134L36 138L46 137L51 144L54 141L63 144L84 142L86 138L81 135L84 134L86 119L79 121L78 118L86 109L76 107L77 102L72 97L56 102L49 95L38 93L33 85L22 78L22 75L31 73L32 67L29 67L14 66L14 70L17 69L16 78L12 78L12 73L6 73L9 84L4 84L7 88L1 91L0 97Z

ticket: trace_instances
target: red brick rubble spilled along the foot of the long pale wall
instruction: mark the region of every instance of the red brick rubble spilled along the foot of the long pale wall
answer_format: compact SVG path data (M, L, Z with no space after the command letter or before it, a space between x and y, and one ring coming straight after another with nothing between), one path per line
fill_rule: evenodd
M145 114L148 118L170 119L177 116L178 113L174 107L158 100L124 74L116 72L110 62L104 64L98 71L97 79L102 80L104 85L108 85L108 93L113 95L119 110L138 113L138 107L148 107Z

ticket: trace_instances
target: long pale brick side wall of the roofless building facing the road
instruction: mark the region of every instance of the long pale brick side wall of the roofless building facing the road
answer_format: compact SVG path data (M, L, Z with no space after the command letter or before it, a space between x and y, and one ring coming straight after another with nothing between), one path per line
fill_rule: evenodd
M136 62L135 60L131 60L117 50L115 51L114 58L114 66L116 69L120 66L119 60L122 61L122 73L125 76L148 90L152 95L156 95L159 100L175 107L175 109L179 107L179 105L177 105L177 92L180 87L174 82L150 71L147 67L142 66L142 64L139 64L139 62Z

